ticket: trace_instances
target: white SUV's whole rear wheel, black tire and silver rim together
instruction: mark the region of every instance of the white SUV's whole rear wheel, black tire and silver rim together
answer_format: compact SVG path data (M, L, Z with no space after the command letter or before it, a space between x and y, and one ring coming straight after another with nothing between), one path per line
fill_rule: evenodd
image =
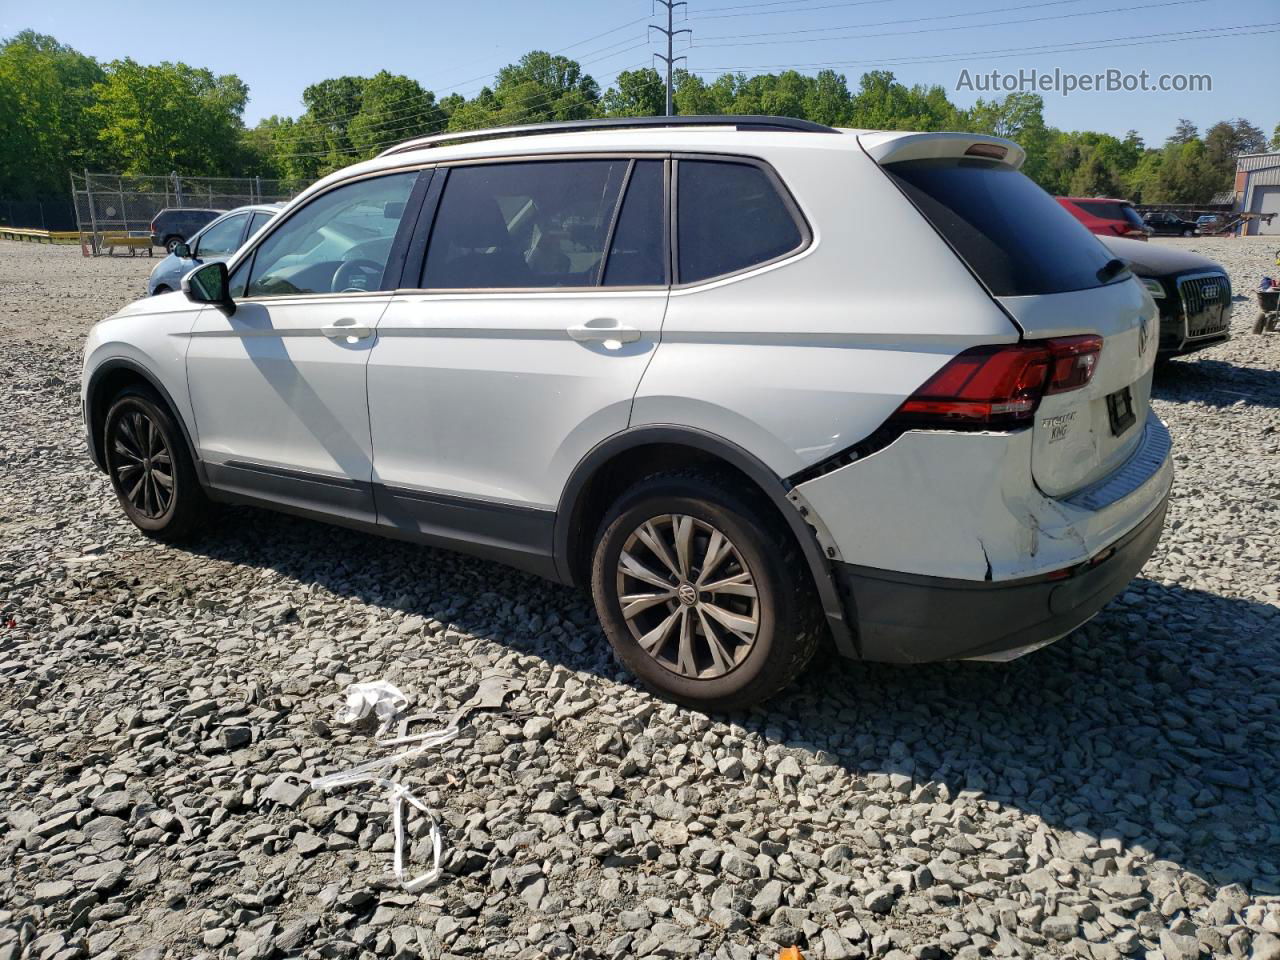
M659 696L705 710L780 692L826 634L791 532L763 497L741 488L714 471L649 476L608 511L593 554L595 609L618 659ZM703 570L713 549L718 558ZM630 618L621 596L634 598Z

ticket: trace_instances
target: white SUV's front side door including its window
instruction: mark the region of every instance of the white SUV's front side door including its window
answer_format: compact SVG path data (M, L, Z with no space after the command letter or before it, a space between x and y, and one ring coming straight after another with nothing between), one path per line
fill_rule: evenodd
M365 372L416 177L355 180L312 198L239 260L236 312L201 311L187 380L212 486L374 520Z

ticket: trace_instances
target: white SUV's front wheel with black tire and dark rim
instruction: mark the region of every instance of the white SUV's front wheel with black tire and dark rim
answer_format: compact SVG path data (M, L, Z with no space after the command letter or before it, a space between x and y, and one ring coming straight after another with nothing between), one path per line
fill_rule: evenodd
M102 426L102 449L111 489L138 530L174 543L201 527L209 499L182 430L154 392L131 387L115 397Z

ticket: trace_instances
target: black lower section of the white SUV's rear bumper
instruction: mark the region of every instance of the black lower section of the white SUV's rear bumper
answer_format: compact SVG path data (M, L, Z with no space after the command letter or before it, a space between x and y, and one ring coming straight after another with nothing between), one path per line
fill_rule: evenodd
M863 659L1011 659L1057 640L1124 590L1160 541L1169 494L1066 579L974 581L835 564Z

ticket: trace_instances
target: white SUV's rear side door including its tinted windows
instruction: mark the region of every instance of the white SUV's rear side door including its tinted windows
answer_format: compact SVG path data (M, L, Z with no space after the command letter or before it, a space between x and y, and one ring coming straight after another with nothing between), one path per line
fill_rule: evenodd
M667 306L663 157L442 168L369 367L379 522L538 553ZM417 266L420 273L413 273Z

